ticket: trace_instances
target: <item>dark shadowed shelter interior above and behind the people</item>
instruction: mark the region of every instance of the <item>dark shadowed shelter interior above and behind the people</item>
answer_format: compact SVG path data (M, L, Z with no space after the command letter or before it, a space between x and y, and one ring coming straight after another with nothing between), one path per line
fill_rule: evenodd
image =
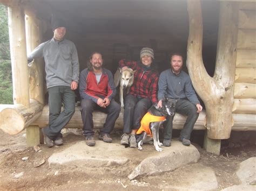
M94 51L101 52L104 67L115 72L118 60L139 59L142 47L154 49L159 72L170 67L169 54L186 56L188 13L184 0L30 0L37 17L47 22L44 40L52 38L51 17L60 17L67 25L66 38L78 50L80 70ZM219 2L202 1L203 59L206 70L214 73L218 39ZM184 63L184 68L185 63Z

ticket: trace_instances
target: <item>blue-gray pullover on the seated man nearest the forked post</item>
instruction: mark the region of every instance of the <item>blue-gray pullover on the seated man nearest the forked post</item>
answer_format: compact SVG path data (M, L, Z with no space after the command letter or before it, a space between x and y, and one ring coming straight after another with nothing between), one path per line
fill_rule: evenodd
M200 103L192 86L190 76L184 71L176 75L171 69L167 69L160 74L158 100L163 100L165 95L169 98L187 99L194 105Z

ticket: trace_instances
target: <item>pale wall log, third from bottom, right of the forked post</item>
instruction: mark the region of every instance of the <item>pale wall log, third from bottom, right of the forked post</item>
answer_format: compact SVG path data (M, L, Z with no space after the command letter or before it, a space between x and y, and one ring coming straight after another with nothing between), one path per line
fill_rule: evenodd
M234 98L256 98L255 83L235 83Z

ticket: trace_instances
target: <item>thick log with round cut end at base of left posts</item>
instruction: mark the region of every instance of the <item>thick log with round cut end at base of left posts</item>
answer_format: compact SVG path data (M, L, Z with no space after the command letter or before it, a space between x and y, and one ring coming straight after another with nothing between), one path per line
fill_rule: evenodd
M17 104L2 109L0 112L0 129L9 135L16 135L41 116L42 110L43 104L36 100L30 100L29 108Z

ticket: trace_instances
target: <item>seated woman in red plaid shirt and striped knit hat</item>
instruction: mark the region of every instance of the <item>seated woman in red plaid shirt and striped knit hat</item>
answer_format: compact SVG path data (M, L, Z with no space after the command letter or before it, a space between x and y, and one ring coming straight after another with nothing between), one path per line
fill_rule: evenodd
M140 51L140 61L119 61L122 70L136 70L130 92L124 99L124 134L121 140L123 145L137 146L135 134L140 127L140 121L151 105L158 102L159 74L153 67L153 59L153 49L145 47Z

